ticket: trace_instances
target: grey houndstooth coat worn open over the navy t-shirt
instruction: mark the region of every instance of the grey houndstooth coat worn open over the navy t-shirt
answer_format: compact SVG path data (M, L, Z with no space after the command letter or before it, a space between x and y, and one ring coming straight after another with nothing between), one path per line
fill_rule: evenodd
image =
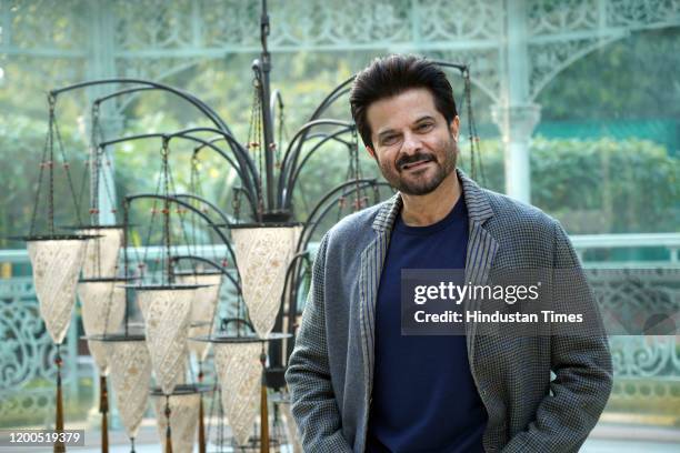
M466 325L470 370L489 415L484 449L576 452L611 391L607 338L578 258L556 220L458 175L469 218L466 282L484 284L494 272L521 268L576 269L568 288L554 291L570 292L583 315L597 320L579 336L504 339ZM286 373L306 452L364 451L376 296L401 204L397 194L349 215L320 244Z

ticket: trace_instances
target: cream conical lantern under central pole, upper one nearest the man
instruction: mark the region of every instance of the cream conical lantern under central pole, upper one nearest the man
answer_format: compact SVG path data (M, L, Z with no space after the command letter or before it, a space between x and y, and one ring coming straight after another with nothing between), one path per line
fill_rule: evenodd
M237 266L250 321L261 339L271 333L281 303L286 271L301 226L233 225Z

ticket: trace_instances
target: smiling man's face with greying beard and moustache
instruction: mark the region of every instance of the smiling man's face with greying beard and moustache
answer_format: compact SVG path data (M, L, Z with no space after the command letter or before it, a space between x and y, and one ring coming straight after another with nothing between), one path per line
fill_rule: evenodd
M369 105L367 120L384 179L409 195L432 192L456 169L458 117L447 124L427 89L411 89Z

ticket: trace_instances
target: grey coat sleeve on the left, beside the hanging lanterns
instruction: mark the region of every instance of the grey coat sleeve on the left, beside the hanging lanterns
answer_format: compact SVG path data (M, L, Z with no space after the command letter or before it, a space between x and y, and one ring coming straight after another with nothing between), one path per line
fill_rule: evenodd
M351 452L342 436L342 420L333 393L326 341L323 275L328 234L321 241L312 270L296 346L288 361L286 381L292 415L304 452Z

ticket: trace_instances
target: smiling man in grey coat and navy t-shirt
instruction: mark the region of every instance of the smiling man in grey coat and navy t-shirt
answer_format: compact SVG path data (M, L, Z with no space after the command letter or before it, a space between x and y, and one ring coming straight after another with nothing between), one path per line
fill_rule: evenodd
M608 400L611 359L566 232L456 170L456 103L432 62L373 61L350 104L399 192L321 241L286 375L304 451L578 451ZM464 269L464 282L484 284L519 268L576 270L568 290L597 328L502 338L468 323L462 336L401 334L401 270Z

